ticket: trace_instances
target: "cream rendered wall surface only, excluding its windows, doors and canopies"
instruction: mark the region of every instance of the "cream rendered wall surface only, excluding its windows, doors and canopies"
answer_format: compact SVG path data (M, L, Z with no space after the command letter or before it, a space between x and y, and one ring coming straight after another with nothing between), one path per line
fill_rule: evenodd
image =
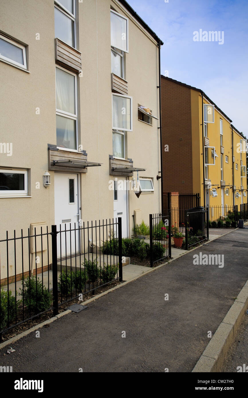
M81 219L99 220L113 217L113 191L109 191L109 154L112 148L110 6L129 18L129 54L126 55L126 79L129 96L133 96L133 132L127 133L127 157L133 164L146 168L140 176L152 177L154 193L139 199L130 192L129 233L132 234L134 209L141 209L148 222L150 212L160 211L159 122L153 126L138 121L137 105L142 103L159 117L158 46L137 21L115 1L96 0L78 3L78 50L82 52L82 77L78 77L79 144L88 153L88 160L102 163L88 168L80 176ZM12 156L0 154L0 166L31 170L31 197L0 198L1 231L17 236L23 228L27 234L30 223L54 224L54 172L51 186L43 186L48 169L47 144L56 144L55 103L55 32L53 2L33 0L2 0L0 32L28 45L29 72L0 62L1 142L13 143ZM35 39L39 33L40 40ZM36 115L36 107L40 114ZM135 173L135 177L137 174ZM36 189L36 182L40 188ZM0 249L1 251L1 249ZM13 255L13 252L12 252ZM4 254L1 251L1 279ZM13 269L13 258L12 269ZM28 269L25 261L25 270ZM14 271L12 271L14 272ZM21 272L20 262L17 273Z

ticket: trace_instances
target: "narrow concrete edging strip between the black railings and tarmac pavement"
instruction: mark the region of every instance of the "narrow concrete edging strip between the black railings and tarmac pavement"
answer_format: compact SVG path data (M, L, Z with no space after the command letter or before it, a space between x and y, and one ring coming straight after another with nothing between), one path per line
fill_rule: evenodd
M236 228L236 229L238 229L238 228ZM234 230L236 230L236 229L234 229ZM223 234L222 236L227 235L227 234L229 234L230 232L232 232L232 231L234 231L234 230L228 231L228 232L226 232L225 234ZM218 239L218 237L214 238L213 240L215 240L215 239ZM203 244L201 244L200 246L197 246L197 247L194 248L194 249L191 249L190 252L193 252L194 250L199 249L199 247L201 247L201 246L203 246ZM184 256L185 254L188 254L188 253L189 253L189 252L183 253L182 255L180 255L180 258L181 258L182 256ZM102 296L105 296L105 295L107 295L107 294L109 294L109 293L115 291L116 289L119 289L120 287L123 287L123 286L127 285L127 283L131 283L131 282L135 281L136 279L138 279L138 278L140 278L140 277L142 277L142 276L144 276L144 275L146 275L146 274L148 274L148 273L150 273L150 272L156 271L157 269L159 269L159 268L161 268L161 267L164 267L164 265L166 265L166 264L168 264L168 263L170 263L170 262L172 262L172 261L174 261L174 260L176 260L176 259L178 259L178 257L177 257L177 258L172 258L172 259L166 261L165 263L158 265L157 267L149 268L146 272L144 272L144 273L142 273L142 274L140 274L140 275L137 275L137 276L134 277L133 279L130 279L129 281L126 281L126 282L124 282L124 283L121 283L121 285L117 285L117 286L115 286L115 287L112 287L112 289L109 289L109 290L107 290L107 291L105 291L105 292L103 292L103 293L100 293L99 295L96 295L95 297L89 298L88 300L86 300L86 301L84 301L84 302L82 302L82 303L80 303L80 304L81 304L81 305L87 305L87 304L89 304L90 302L95 301L95 300L97 300L98 298L100 298L100 297L102 297ZM247 283L247 282L246 282L246 283ZM241 293L241 292L240 292L240 293ZM2 349L3 347L6 347L6 345L10 345L10 344L15 343L15 341L18 341L18 340L20 340L21 338L23 338L24 336L27 336L29 333L35 332L35 330L37 330L37 329L39 329L39 328L42 328L43 326L45 326L45 325L47 325L47 324L50 324L50 323L52 323L52 322L58 320L58 319L61 318L62 316L67 315L67 314L70 314L70 312L72 312L72 311L71 311L71 310L63 311L63 312L61 312L60 314L54 316L53 318L50 318L50 319L48 319L48 320L46 320L46 321L44 321L44 322L42 322L42 323L40 323L40 324L38 324L38 325L33 326L32 328L30 328L30 329L28 329L28 330L25 330L25 331L22 332L21 334L18 334L17 336L14 336L14 337L12 337L12 338L9 339L9 340L3 341L2 343L0 343L0 349ZM215 333L216 333L216 332L215 332ZM213 338L212 338L212 339L213 339ZM201 358L200 358L200 359L201 359ZM200 359L199 359L199 361L200 361ZM198 361L198 362L199 362L199 361ZM198 362L197 362L197 363L198 363ZM195 369L195 368L194 368L194 369Z

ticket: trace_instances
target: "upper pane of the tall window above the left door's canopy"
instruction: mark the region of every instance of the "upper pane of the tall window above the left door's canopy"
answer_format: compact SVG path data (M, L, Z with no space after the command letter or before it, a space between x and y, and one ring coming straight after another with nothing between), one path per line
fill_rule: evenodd
M56 108L75 115L75 77L56 68Z

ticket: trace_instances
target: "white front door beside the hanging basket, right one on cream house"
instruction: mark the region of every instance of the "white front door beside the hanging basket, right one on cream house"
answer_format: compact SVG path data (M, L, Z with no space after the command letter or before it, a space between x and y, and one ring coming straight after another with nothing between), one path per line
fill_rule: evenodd
M121 217L122 238L127 238L127 181L125 178L115 178L114 185L114 222Z

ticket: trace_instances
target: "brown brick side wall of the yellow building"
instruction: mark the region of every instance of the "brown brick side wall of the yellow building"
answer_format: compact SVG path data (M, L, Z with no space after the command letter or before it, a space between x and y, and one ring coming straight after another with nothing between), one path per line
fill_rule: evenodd
M161 103L164 195L172 191L192 193L190 88L161 77Z

